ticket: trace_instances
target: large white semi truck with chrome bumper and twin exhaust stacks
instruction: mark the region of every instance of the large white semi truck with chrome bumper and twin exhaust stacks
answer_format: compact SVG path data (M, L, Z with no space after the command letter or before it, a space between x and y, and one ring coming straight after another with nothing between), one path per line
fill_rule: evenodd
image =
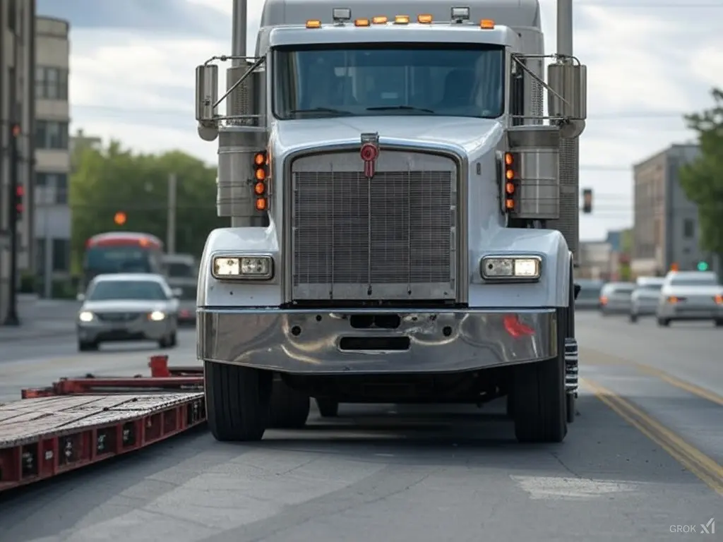
M565 438L586 68L558 1L546 57L537 0L267 0L254 56L236 0L233 54L196 71L231 219L198 283L216 439L300 428L310 398L505 396L518 441Z

